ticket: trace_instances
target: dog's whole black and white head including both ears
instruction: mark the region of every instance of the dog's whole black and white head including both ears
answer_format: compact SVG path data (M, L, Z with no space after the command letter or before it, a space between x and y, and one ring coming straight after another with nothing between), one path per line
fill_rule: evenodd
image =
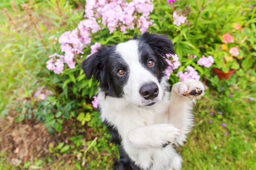
M160 84L168 64L165 54L174 54L173 44L162 35L144 33L117 46L101 46L86 58L82 68L87 78L100 82L106 96L125 98L138 107L151 108L163 98Z

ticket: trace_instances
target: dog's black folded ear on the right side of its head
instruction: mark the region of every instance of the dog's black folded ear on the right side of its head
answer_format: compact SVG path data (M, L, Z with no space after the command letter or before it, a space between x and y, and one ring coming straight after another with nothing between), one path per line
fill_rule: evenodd
M165 54L174 54L173 43L165 35L145 32L140 36L140 40L147 43L159 56L165 56Z

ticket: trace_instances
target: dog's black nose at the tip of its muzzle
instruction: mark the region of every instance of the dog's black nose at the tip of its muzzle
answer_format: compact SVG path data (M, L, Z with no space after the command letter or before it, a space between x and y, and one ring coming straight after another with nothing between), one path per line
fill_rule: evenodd
M155 83L144 84L140 87L140 95L146 100L154 99L158 96L158 86Z

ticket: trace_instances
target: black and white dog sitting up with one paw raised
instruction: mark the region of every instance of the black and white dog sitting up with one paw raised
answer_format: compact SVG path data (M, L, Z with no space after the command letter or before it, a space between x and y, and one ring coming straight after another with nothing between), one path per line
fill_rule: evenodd
M88 79L94 75L100 82L101 118L117 130L123 154L131 160L127 167L117 167L181 169L182 159L172 144L186 141L193 126L191 110L204 94L203 84L193 79L178 82L170 95L164 56L174 50L163 35L146 32L97 51L83 61L82 68Z

